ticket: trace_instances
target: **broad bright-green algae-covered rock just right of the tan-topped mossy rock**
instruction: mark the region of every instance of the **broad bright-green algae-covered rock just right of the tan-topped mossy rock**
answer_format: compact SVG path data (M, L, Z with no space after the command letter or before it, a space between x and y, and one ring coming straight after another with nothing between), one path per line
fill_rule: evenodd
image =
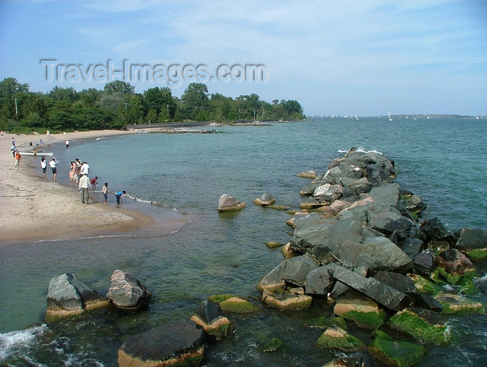
M428 345L448 345L454 337L442 316L416 307L399 311L385 326Z

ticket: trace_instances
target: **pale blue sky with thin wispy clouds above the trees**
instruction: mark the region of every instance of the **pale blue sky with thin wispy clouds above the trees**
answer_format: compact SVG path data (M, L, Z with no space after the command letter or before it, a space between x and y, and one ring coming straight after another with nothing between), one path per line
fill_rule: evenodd
M264 65L264 81L195 80L191 70L184 80L179 70L170 88L180 97L202 81L228 97L297 100L307 115L487 115L486 19L487 1L0 0L0 80L47 92L125 77L143 93L168 84L90 72L108 60L115 70L124 60L204 65L207 77ZM50 81L46 59L60 70ZM66 81L62 65L85 75Z

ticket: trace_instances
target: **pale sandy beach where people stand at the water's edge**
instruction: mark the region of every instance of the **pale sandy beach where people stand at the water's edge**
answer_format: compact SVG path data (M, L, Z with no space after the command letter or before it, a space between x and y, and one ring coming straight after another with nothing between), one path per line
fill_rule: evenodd
M29 142L42 139L38 152L47 152L48 144L64 144L66 140L134 133L113 130L49 136L4 133L3 139L0 137L0 244L111 235L140 230L146 226L153 227L154 219L141 212L113 208L101 203L81 203L76 190L51 180L49 165L45 177L34 173L34 169L38 167L33 166L29 159L21 159L19 169L15 169L15 159L10 150L12 138L15 138L16 146L21 152L31 151ZM50 160L51 157L47 159ZM40 161L40 157L35 160ZM167 228L159 221L157 226L161 227L158 229L161 234L168 234L182 224L175 224L174 219L170 219Z

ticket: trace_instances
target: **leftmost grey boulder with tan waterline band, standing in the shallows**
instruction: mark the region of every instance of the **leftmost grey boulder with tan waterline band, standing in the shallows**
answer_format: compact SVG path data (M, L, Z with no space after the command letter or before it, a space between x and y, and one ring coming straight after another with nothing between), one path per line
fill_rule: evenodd
M108 304L102 295L81 282L76 274L65 273L49 281L46 320L55 320Z

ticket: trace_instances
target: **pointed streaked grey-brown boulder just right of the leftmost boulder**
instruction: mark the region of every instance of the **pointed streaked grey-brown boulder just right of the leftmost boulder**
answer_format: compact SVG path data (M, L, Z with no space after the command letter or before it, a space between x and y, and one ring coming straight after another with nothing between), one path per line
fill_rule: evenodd
M111 286L106 298L118 309L138 311L149 302L151 293L130 274L115 270L111 275Z

